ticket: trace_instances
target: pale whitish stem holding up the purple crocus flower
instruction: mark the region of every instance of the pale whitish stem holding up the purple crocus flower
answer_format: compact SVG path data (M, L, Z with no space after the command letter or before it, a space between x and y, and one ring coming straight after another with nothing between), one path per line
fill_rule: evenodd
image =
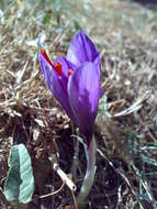
M78 204L79 209L85 208L86 198L89 195L89 191L94 180L94 174L96 174L96 168L97 168L96 167L97 145L96 145L94 135L92 135L89 146L87 146L87 144L83 143L83 147L85 147L85 153L86 153L86 158L87 158L87 170L86 170L82 186L77 197L77 204Z

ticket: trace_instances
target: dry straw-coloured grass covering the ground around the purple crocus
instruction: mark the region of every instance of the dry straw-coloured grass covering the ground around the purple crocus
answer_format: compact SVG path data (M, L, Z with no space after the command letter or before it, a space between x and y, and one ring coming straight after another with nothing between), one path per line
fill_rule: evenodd
M61 186L52 169L54 153L59 153L60 167L70 173L76 144L71 134L76 132L45 86L37 52L44 44L53 58L65 54L72 34L82 26L101 51L102 86L108 98L108 102L102 98L97 119L98 168L88 207L156 208L156 12L116 0L93 0L85 8L78 1L68 7L59 9L58 16L56 8L49 10L48 4L30 8L15 2L8 6L4 22L0 21L0 186L7 175L10 146L24 143L35 176L34 199L27 208L72 205L72 194L66 186L57 196L38 198ZM48 12L52 18L43 23ZM139 102L128 112L126 109L136 101ZM85 168L80 147L75 177L78 188ZM0 206L11 208L2 194Z

